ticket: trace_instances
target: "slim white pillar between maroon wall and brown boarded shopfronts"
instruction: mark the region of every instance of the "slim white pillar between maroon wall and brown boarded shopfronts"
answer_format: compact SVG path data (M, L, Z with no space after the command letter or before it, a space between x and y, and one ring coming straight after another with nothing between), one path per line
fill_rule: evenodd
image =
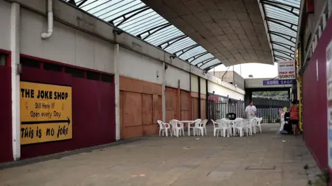
M114 84L116 96L116 141L120 140L120 75L119 75L119 44L114 44Z

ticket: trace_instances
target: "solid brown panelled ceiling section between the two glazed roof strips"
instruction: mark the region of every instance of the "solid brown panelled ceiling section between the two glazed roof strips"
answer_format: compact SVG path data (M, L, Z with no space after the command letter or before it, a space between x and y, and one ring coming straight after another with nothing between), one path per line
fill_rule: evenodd
M273 64L257 0L142 0L224 65Z

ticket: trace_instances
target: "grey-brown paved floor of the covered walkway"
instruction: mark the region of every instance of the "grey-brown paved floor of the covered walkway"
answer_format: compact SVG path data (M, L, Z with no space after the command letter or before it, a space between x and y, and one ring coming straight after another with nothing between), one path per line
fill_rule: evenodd
M319 169L301 136L278 127L241 138L213 137L211 126L203 137L152 136L3 169L0 185L307 185Z

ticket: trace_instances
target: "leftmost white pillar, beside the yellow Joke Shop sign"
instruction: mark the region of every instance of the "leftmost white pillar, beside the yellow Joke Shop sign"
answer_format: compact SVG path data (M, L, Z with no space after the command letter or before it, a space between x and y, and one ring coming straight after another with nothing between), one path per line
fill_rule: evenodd
M10 50L12 71L12 156L15 161L21 158L20 103L19 103L19 3L11 3Z

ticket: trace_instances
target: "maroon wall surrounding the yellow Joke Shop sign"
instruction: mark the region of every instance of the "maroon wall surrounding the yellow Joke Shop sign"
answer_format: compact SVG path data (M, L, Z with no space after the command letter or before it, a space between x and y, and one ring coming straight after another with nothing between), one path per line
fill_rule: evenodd
M116 141L114 83L23 67L21 81L72 86L73 138L21 146L21 158L54 154Z

